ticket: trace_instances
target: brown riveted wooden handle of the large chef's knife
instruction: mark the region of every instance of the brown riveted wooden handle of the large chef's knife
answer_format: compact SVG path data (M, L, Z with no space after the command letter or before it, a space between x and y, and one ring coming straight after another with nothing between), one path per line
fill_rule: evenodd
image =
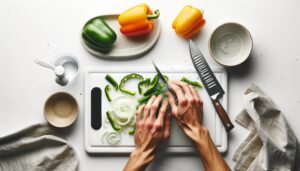
M227 132L229 132L230 130L232 130L234 128L234 125L231 123L227 112L225 111L225 109L223 108L222 104L219 102L219 99L212 99L212 102L214 104L214 107L226 129Z

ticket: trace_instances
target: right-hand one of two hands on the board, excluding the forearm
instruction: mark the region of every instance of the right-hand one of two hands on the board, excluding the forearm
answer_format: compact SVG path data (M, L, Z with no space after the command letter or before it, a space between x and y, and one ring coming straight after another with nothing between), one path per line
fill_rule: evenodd
M203 101L197 90L181 81L170 81L170 87L175 91L178 104L171 93L168 93L172 115L186 135L197 142L203 129Z

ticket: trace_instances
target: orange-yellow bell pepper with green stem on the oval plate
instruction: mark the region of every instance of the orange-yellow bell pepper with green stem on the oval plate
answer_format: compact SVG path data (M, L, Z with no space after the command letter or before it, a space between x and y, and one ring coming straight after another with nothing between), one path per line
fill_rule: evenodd
M153 30L152 19L159 17L159 10L151 11L145 3L127 9L119 15L120 31L126 36L139 36Z

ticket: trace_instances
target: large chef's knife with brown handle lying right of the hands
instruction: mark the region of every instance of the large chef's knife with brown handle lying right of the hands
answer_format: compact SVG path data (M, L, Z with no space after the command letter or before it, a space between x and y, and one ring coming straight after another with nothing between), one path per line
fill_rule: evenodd
M212 103L221 118L221 121L226 129L229 132L234 128L234 125L231 123L227 112L219 102L219 98L225 93L222 89L220 83L216 79L214 73L211 71L208 63L205 60L205 57L201 53L200 49L195 45L192 40L189 40L190 54L192 57L193 64L200 76L200 79L210 96Z

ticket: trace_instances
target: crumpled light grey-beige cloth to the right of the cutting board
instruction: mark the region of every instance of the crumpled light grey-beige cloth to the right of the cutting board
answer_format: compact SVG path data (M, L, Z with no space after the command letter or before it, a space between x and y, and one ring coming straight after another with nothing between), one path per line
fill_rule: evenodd
M236 122L250 134L235 151L235 170L300 170L300 145L282 111L254 84L246 90L244 102Z

